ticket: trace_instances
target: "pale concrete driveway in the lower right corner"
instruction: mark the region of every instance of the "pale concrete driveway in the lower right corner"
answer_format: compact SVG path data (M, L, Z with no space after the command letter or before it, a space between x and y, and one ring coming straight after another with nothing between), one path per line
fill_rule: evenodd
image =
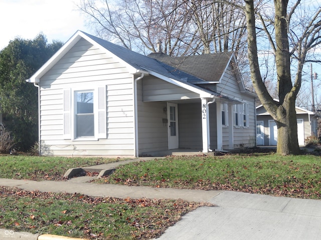
M157 240L321 238L321 201L224 191L186 214Z

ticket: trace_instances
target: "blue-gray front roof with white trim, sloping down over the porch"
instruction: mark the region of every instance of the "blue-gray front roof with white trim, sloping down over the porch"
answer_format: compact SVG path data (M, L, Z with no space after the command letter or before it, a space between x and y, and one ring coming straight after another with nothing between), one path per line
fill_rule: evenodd
M227 101L238 102L237 100L221 95L215 91L202 88L187 81L187 79L192 79L194 82L202 81L201 78L195 75L184 72L183 70L177 71L177 69L173 66L170 66L157 59L144 56L79 30L39 70L37 70L37 72L31 76L31 78L27 79L27 81L34 83L39 82L40 78L46 72L48 72L81 38L84 38L91 44L98 46L106 53L112 53L119 59L120 62L125 64L130 69L129 71L132 74L145 72L191 91L197 92L201 97L221 98L222 100L225 99Z

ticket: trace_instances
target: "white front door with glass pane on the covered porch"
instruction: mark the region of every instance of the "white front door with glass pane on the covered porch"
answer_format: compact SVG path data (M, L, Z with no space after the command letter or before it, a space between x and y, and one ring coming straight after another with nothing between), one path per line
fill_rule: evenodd
M169 149L179 148L178 110L176 103L167 103L167 114L169 119Z

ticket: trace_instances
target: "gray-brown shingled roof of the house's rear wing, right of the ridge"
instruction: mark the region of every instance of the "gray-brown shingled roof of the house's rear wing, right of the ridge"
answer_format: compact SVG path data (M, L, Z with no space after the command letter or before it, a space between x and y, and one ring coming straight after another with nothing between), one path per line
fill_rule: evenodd
M202 81L219 81L232 54L232 52L221 52L171 57L163 52L156 52L150 53L148 56L165 62L177 70L197 76ZM196 79L194 80L196 81ZM193 82L193 80L189 80L189 82Z

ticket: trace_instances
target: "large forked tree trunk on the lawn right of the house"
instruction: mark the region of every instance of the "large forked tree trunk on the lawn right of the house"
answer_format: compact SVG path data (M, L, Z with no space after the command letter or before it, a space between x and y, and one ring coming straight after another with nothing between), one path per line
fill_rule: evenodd
M299 86L292 86L290 74L290 54L287 37L287 0L274 0L275 6L275 62L279 101L273 100L260 74L253 0L245 0L248 58L251 80L264 108L271 114L278 128L277 153L281 155L299 154L295 97ZM298 88L297 88L298 87Z

